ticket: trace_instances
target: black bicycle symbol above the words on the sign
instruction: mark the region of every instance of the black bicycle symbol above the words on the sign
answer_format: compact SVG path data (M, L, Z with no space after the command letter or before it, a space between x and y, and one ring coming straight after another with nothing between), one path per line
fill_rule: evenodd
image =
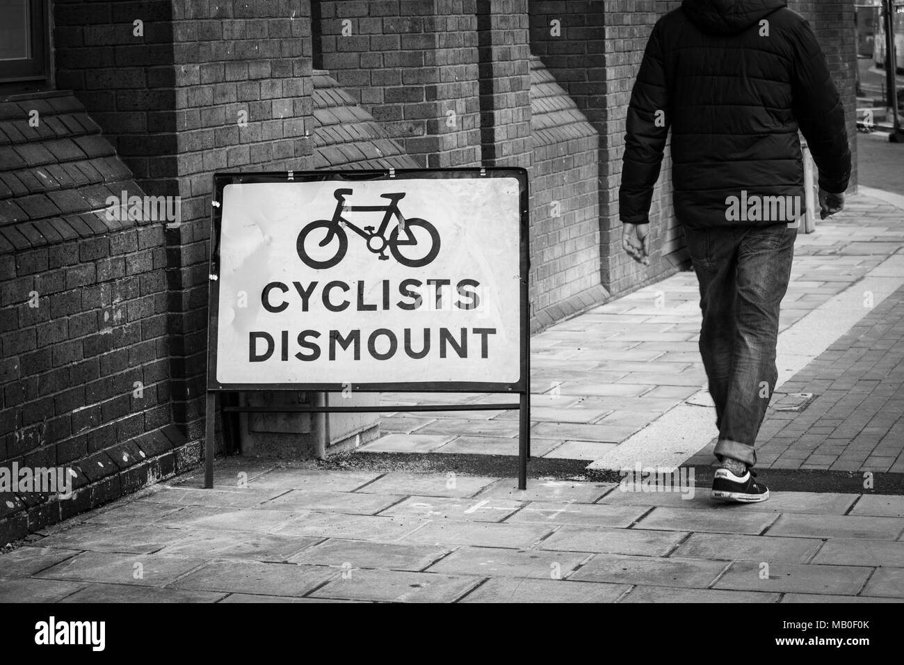
M404 192L381 194L382 198L389 201L389 203L385 205L346 205L345 197L352 195L352 193L353 190L351 189L335 190L333 195L336 199L336 207L333 213L333 219L318 219L315 222L307 224L305 228L301 230L301 233L298 233L296 242L298 258L304 261L307 266L315 269L325 269L332 268L339 263L339 261L342 261L345 257L345 252L348 251L348 235L345 233L346 227L360 235L364 239L364 242L367 243L367 249L374 254L379 254L378 258L381 261L386 261L390 258L386 255L387 248L389 248L396 261L399 261L402 265L409 266L410 268L420 268L437 258L437 254L439 253L439 233L436 227L427 220L419 219L418 217L406 219L402 216L399 210L399 201L405 197ZM374 229L373 226L365 226L362 229L344 218L343 214L346 212L385 214L383 215L383 221L378 228ZM392 228L389 236L387 236L386 231L393 219L397 220L398 223ZM415 234L412 233L412 229L422 229L423 231L426 231L429 236L429 238L421 238L421 242L429 241L428 252L421 258L409 258L405 256L405 254L402 253L403 250L400 249L418 245L418 239L415 237ZM316 242L315 237L310 237L311 233L318 230L325 230L325 238L320 242ZM400 237L400 234L403 235ZM307 251L307 246L310 246L311 242L316 242L317 247L326 247L331 242L334 242L335 239L338 239L339 242L332 258L317 260Z

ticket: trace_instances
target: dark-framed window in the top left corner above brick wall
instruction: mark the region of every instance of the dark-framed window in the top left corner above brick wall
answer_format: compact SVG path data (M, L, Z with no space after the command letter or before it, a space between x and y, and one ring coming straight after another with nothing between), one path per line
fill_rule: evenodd
M50 21L46 0L0 0L0 83L46 81Z

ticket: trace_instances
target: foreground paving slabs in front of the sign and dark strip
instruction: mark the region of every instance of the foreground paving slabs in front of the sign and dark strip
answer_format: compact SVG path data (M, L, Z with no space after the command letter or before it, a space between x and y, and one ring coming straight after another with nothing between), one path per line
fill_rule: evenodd
M724 507L703 491L519 491L511 478L241 458L216 478L201 489L189 474L30 538L0 556L0 602L904 598L904 497L777 492Z

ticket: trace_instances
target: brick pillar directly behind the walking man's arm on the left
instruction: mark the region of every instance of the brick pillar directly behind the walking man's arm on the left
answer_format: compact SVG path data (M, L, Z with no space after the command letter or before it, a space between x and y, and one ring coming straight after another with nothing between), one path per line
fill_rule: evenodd
M675 271L682 241L671 214L671 160L666 156L651 209L650 266L621 249L618 185L625 143L625 117L647 37L664 3L626 0L578 3L532 2L531 48L568 91L598 135L598 205L601 286L612 294L660 280Z

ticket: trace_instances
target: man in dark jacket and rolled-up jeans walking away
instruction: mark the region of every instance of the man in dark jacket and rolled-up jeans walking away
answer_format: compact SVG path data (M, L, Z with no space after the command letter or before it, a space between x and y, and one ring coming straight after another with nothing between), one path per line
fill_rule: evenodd
M719 429L712 496L762 501L768 489L750 469L804 214L798 128L819 168L823 218L842 210L851 175L844 109L810 24L785 0L683 0L655 24L627 112L619 190L623 246L644 264L669 128Z

